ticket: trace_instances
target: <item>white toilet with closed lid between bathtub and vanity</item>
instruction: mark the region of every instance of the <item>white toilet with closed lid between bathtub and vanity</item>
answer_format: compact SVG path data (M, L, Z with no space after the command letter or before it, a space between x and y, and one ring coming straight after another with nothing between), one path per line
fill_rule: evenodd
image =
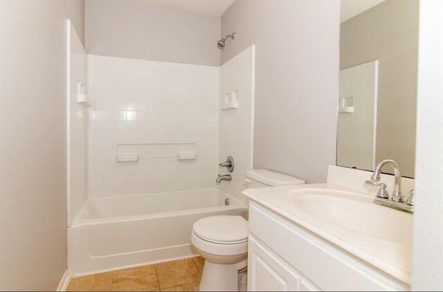
M250 170L245 182L247 188L305 183L269 170ZM238 291L238 272L248 264L248 232L248 221L241 216L210 216L194 223L191 242L206 259L200 291Z

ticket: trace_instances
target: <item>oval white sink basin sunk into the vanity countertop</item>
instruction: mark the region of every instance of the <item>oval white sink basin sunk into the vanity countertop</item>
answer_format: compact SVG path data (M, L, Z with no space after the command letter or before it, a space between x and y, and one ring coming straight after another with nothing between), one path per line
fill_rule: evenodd
M305 215L314 217L313 223L317 225L345 228L398 244L411 243L413 217L405 212L374 204L373 198L367 195L305 188L289 191L287 200L299 215L304 212Z

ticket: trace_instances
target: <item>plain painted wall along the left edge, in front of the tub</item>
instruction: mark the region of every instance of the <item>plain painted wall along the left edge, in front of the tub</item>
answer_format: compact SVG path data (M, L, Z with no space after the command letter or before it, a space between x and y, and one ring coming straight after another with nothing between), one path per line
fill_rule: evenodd
M66 271L65 17L65 1L0 1L0 290Z

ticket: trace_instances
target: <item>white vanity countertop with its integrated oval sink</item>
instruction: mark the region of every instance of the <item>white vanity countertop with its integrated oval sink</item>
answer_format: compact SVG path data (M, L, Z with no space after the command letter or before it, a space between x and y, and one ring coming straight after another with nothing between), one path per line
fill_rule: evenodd
M247 189L243 194L410 284L413 215L379 206L368 194L331 183Z

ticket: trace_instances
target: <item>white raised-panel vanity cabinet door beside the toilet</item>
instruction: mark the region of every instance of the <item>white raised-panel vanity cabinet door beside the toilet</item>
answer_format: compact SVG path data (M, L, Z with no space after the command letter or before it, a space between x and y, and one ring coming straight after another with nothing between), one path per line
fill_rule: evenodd
M253 236L248 241L248 291L300 291L298 273Z

